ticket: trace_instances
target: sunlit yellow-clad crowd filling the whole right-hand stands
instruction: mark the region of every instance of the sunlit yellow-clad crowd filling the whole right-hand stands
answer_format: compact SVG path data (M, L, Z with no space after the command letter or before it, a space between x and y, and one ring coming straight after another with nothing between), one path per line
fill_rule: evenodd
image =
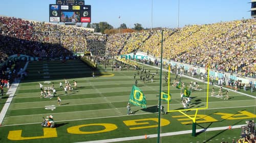
M255 19L219 22L211 25L193 25L181 29L164 30L163 58L190 65L216 69L254 78L256 71ZM109 53L121 55L139 50L160 58L161 31L112 35L107 42ZM123 38L123 39L122 39ZM121 45L121 46L120 46ZM121 50L121 52L119 52ZM117 54L118 54L117 53Z

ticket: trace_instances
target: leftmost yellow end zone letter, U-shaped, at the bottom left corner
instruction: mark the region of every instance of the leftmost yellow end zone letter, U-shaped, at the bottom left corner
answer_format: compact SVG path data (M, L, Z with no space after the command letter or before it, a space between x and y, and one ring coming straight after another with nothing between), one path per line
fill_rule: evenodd
M56 128L44 128L43 130L44 130L43 136L33 136L33 137L22 137L22 130L9 131L7 138L10 140L26 140L26 139L57 137Z

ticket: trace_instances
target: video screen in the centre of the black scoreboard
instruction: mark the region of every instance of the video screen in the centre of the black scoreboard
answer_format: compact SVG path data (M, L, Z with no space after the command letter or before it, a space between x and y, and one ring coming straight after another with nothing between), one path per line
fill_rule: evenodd
M80 12L61 11L60 22L80 22Z

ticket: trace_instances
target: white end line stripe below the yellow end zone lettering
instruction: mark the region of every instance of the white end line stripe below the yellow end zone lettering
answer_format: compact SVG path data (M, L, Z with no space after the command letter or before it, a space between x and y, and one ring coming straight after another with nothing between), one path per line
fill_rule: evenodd
M241 128L244 125L236 125L232 126L232 129ZM198 132L208 132L208 131L218 131L218 130L228 130L229 127L216 127L216 128L207 128L207 129L197 129ZM160 136L172 136L172 135L180 135L180 134L189 134L192 133L192 130L186 131L178 131L178 132L168 132L168 133L161 133ZM150 134L147 135L147 138L155 138L157 134ZM145 139L145 135L140 136L131 136L131 137L120 137L120 138L112 138L112 139L102 139L102 140L93 140L93 141L83 141L83 142L76 142L76 143L107 143L107 142L117 142L117 141L126 141L126 140L136 140L136 139Z

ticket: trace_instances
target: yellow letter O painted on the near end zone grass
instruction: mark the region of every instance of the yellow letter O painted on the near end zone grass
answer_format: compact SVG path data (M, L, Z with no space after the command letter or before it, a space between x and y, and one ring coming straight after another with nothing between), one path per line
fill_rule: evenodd
M105 129L99 130L99 131L90 131L90 132L80 131L80 128L88 127L88 126L103 126ZM115 124L99 123L99 124L86 124L86 125L70 127L67 129L67 132L71 134L95 134L95 133L109 132L116 129L117 129L117 126Z

